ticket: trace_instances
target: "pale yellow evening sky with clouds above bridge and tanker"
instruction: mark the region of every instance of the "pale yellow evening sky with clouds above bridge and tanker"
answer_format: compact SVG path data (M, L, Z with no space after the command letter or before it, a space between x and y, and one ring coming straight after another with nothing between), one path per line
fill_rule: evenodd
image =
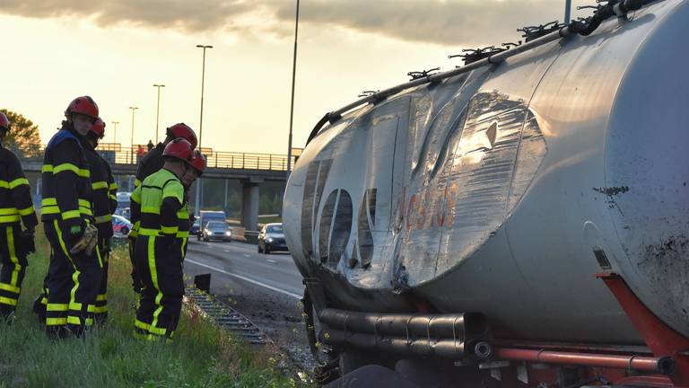
M594 3L573 0L576 5ZM104 142L159 139L185 122L215 151L286 154L295 1L0 0L0 108L39 125L43 143L74 97L91 95ZM327 111L407 72L461 61L462 48L519 40L517 28L563 20L564 0L302 0L293 146ZM132 140L132 110L134 137ZM113 121L118 121L117 131Z

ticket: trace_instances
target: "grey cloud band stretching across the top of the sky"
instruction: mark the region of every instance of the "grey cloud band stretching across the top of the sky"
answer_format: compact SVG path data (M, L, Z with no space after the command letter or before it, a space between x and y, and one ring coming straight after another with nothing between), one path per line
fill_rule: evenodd
M311 0L301 22L344 27L408 41L458 45L518 40L518 27L562 19L560 0ZM284 36L293 22L293 0L0 0L0 13L32 18L85 17L179 31L269 32ZM241 23L248 14L272 21Z

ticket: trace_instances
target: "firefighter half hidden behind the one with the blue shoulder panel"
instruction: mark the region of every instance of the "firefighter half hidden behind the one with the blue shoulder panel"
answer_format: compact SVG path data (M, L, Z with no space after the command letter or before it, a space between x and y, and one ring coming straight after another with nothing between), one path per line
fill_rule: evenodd
M112 214L118 207L118 200L112 191L117 193L118 186L112 176L110 164L98 154L95 148L98 142L105 136L105 123L102 119L96 119L89 133L82 139L83 149L86 152L86 160L91 172L92 212L93 220L98 229L98 248L103 263L100 288L96 296L95 318L102 323L108 317L108 259L110 251L110 238L112 231Z

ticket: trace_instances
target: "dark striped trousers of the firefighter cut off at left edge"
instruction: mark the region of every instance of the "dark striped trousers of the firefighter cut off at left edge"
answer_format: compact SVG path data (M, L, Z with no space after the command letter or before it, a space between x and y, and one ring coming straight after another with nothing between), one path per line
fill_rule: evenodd
M0 225L0 319L14 313L26 273L20 225Z

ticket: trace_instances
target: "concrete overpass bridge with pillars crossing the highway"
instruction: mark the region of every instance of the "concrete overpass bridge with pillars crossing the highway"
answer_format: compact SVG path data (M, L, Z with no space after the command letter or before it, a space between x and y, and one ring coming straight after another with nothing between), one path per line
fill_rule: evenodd
M145 154L144 145L133 148L121 147L118 144L101 144L98 151L109 161L113 174L118 180L120 190L133 190L134 176L138 161ZM292 157L292 165L301 154L297 150ZM287 155L282 154L249 154L217 152L211 148L201 148L205 154L208 167L204 172L204 180L224 180L225 198L227 198L227 181L238 181L241 187L241 225L247 230L257 230L258 201L260 197L259 185L264 182L286 182ZM42 154L42 152L41 152ZM31 187L39 189L42 157L22 158L22 167L27 172ZM34 181L35 180L35 181ZM191 206L198 184L194 185L191 193ZM39 191L38 191L39 192ZM202 203L201 209L204 209Z

